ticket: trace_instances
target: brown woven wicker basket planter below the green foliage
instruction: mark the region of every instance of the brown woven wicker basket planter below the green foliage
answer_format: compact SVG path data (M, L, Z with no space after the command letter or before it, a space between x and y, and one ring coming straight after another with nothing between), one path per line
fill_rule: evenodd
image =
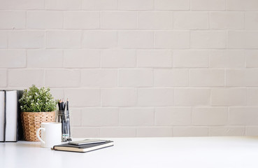
M25 141L39 141L36 131L41 123L55 122L55 111L52 112L22 112L22 128Z

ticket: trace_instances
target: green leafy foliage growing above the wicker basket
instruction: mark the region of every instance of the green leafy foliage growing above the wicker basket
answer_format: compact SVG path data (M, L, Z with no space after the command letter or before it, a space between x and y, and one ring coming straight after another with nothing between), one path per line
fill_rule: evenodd
M50 93L50 88L38 88L35 85L25 89L19 99L22 112L48 112L55 111L57 102Z

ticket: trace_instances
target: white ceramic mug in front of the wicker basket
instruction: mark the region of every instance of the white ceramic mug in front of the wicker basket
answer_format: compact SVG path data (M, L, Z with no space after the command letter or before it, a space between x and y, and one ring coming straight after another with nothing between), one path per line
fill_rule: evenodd
M41 147L52 148L55 145L62 144L61 123L41 123L41 127L37 130L37 137L41 141ZM41 130L41 137L39 131Z

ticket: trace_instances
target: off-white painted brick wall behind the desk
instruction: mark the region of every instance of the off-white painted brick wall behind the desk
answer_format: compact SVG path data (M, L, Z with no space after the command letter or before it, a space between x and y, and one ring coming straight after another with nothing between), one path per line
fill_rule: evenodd
M68 97L73 137L258 134L257 0L1 0L0 88Z

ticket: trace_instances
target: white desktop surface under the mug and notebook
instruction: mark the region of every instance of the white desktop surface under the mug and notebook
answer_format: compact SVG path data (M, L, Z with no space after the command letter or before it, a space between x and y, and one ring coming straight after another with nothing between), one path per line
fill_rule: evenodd
M115 146L89 153L51 151L38 142L0 143L0 167L258 167L258 137L110 140Z

